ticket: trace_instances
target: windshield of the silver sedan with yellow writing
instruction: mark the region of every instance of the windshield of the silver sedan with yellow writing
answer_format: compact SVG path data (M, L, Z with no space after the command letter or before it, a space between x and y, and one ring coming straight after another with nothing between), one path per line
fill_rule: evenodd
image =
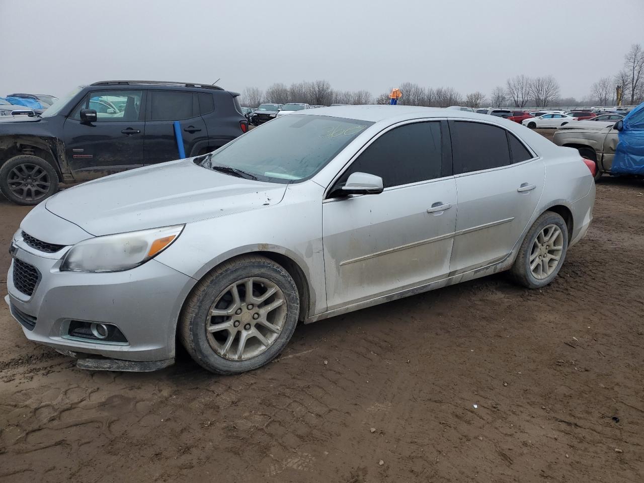
M315 175L372 124L328 116L283 116L214 151L202 166L232 168L260 181L301 181Z

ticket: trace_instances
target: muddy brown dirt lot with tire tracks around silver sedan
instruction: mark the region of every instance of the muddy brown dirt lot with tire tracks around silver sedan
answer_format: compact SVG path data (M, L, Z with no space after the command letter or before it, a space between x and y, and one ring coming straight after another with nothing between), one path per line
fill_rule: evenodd
M27 212L0 200L2 294ZM551 286L493 276L302 326L238 377L185 356L84 372L2 303L0 480L642 482L643 248L644 184L605 179Z

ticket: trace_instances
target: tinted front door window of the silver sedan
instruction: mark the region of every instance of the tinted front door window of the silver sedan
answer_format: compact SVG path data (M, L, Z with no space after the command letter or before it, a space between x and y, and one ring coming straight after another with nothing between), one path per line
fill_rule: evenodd
M380 176L385 188L440 178L441 160L440 122L406 124L372 142L337 185L344 185L351 173Z

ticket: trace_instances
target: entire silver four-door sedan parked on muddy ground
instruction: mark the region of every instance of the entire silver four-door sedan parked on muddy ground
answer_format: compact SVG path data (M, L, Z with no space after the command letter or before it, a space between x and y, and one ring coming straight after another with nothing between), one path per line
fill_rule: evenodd
M182 343L235 374L278 355L298 321L502 270L544 287L594 199L576 150L516 122L307 109L48 198L12 240L6 302L28 339L81 368L154 370Z

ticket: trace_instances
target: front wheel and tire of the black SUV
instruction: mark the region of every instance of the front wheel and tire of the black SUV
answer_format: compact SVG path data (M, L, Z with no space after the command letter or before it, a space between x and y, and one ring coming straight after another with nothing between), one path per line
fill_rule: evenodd
M37 205L58 190L58 175L43 158L18 155L0 167L0 191L19 205Z

